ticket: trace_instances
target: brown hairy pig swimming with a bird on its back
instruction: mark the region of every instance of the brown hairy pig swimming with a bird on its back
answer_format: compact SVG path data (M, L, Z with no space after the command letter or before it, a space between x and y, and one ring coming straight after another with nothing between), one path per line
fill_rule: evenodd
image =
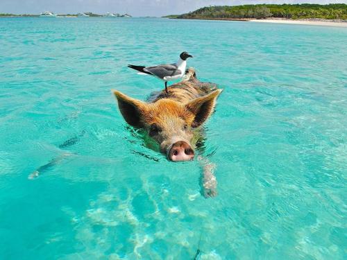
M190 68L182 81L168 87L168 92L153 93L147 102L130 98L118 90L112 92L129 125L142 128L169 161L183 162L196 157L196 142L202 138L202 125L214 111L222 89L212 83L201 83ZM217 186L214 166L201 156L198 160L204 168L204 193L214 196Z

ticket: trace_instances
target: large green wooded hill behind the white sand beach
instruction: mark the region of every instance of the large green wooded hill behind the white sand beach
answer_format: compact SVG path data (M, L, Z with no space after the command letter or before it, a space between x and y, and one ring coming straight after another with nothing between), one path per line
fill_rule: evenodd
M178 19L347 19L347 4L257 4L244 6L209 6L179 15Z

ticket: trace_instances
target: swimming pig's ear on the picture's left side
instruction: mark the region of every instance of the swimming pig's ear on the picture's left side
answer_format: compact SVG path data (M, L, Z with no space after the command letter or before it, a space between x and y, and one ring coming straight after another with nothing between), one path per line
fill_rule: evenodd
M146 103L130 98L117 90L112 90L112 92L117 98L119 110L126 122L135 128L142 128L144 126L142 119Z

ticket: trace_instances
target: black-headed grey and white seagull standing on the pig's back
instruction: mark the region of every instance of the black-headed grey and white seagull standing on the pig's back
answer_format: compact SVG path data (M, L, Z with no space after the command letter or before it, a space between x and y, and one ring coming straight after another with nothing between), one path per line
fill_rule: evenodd
M144 67L128 64L128 67L139 71L139 75L151 75L165 82L165 92L167 91L167 82L170 80L178 80L185 75L185 67L187 66L187 58L193 58L192 55L183 51L180 53L178 62L172 64L161 64L153 67Z

